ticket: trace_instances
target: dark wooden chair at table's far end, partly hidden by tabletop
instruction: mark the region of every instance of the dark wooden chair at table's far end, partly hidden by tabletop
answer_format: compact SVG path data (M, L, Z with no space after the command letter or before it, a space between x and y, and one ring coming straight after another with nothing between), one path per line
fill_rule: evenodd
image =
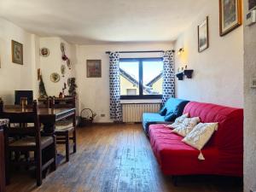
M39 100L41 107L44 108L75 108L75 97L55 98L48 97ZM57 144L65 144L66 147L66 160L69 161L69 148L73 145L73 153L76 153L76 118L66 119L55 124L55 136ZM70 143L70 140L73 143Z

